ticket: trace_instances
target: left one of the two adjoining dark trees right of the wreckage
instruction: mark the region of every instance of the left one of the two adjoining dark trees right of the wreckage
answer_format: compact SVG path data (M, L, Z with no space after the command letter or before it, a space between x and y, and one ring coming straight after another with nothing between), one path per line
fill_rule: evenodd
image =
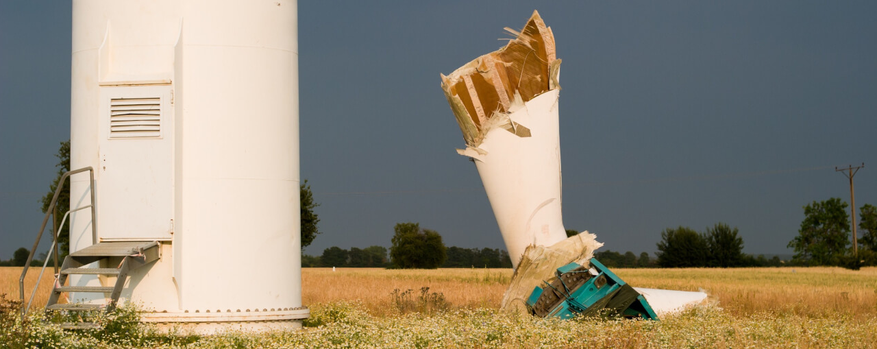
M667 228L660 233L658 265L660 267L704 267L709 246L697 231L688 227Z

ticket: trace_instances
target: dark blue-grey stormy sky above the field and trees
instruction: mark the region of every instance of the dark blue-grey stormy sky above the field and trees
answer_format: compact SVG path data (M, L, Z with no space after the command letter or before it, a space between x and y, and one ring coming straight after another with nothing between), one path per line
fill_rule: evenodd
M305 253L389 246L419 222L503 247L439 73L503 46L536 10L560 73L564 221L613 251L660 231L737 226L789 253L802 206L877 204L873 2L303 2L302 178L321 222ZM0 259L31 246L69 137L70 4L0 2ZM75 151L75 150L74 150Z

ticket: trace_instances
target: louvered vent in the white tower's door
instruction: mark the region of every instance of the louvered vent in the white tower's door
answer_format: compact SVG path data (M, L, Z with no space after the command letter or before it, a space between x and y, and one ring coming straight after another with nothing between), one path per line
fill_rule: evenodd
M110 101L110 138L161 136L161 98L113 98Z

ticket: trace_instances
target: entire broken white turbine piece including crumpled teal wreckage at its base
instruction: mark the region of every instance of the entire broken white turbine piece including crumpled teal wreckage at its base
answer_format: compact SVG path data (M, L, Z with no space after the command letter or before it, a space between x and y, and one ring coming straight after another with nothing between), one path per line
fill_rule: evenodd
M657 318L656 312L701 302L702 292L631 288L593 259L602 246L594 234L567 239L561 217L560 60L553 33L537 11L520 32L505 29L515 36L508 45L441 75L466 140L466 149L457 152L475 163L515 267L503 310L564 318L604 310Z

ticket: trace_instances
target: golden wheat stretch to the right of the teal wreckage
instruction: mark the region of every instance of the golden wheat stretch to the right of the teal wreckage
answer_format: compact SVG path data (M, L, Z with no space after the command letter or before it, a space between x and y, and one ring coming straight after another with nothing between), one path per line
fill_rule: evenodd
M617 269L644 288L702 288L734 316L877 317L877 267Z

